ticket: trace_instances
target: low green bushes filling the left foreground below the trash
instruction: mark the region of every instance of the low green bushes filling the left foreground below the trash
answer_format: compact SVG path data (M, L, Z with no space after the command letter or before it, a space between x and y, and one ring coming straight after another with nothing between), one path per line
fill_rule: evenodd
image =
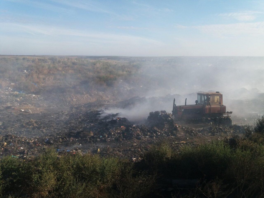
M114 157L75 154L58 157L47 149L32 161L0 161L0 195L30 197L144 197L153 177Z

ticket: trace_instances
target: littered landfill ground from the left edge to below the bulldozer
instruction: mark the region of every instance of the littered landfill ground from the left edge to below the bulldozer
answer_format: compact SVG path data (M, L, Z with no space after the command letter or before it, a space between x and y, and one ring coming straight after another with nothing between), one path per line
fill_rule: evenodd
M198 139L212 141L230 134L243 134L245 128L238 125L180 126L166 111L150 112L143 123L132 122L119 113L104 112L107 107L126 108L146 100L140 97L118 103L96 101L65 106L10 87L0 90L0 95L0 157L28 160L52 147L58 156L90 152L138 161L158 142L166 140L177 148L195 144ZM169 99L172 97L175 96Z

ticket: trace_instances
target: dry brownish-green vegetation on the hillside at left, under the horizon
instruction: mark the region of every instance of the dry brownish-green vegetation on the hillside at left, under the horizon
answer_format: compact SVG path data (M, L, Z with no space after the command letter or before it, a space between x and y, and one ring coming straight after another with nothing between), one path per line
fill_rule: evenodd
M138 71L131 61L90 60L58 56L0 56L0 88L10 87L28 93L41 93L50 87L71 88L112 86L118 78L126 78Z

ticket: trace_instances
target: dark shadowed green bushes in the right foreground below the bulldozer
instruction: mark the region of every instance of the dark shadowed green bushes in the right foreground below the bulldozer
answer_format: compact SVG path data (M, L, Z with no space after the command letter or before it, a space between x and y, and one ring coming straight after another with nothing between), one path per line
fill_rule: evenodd
M172 152L168 144L153 146L145 154L146 165L155 171L157 183L169 180L200 180L186 197L261 197L264 193L264 146L238 139L236 147L212 141L183 146ZM175 192L177 194L177 191Z

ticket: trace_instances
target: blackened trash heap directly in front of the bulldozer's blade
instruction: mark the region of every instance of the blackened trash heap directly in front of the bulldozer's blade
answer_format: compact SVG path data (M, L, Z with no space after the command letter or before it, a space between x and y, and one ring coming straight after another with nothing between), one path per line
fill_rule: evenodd
M85 119L82 122L86 122ZM176 134L177 127L173 124L171 114L166 111L155 111L149 113L146 125L133 125L127 118L115 117L111 120L97 118L89 126L85 125L78 131L70 131L69 136L87 138L89 142L113 142L133 138L172 136Z

